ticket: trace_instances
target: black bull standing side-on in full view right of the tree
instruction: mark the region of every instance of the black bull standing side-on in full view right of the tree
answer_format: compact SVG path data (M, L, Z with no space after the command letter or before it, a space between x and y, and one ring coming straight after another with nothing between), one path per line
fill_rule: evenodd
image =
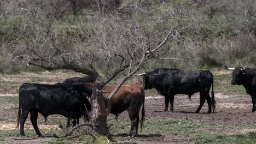
M199 113L205 100L208 103L208 113L215 110L215 99L213 92L213 75L208 70L184 71L180 69L155 69L143 75L144 89L155 88L160 94L165 96L165 110L168 110L168 103L171 104L170 111L173 111L173 99L176 94L191 95L200 92L200 105L196 110ZM209 91L212 85L212 98Z

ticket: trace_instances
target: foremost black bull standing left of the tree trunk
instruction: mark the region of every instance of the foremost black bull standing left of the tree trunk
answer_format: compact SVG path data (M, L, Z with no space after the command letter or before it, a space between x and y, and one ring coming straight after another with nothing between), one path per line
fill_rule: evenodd
M25 136L24 124L30 112L30 121L38 136L38 112L44 118L49 115L62 115L67 118L79 119L82 115L88 119L91 105L87 99L92 94L91 88L83 84L46 85L38 83L23 83L19 89L19 111L17 128L20 123L20 135ZM75 125L77 121L73 121Z

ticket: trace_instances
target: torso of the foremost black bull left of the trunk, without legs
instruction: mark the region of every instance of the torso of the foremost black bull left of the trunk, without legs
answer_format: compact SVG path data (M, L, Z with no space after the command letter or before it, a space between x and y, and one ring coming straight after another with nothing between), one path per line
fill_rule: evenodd
M26 83L20 87L19 101L22 109L37 109L43 116L67 116L67 112L78 110L83 105L84 98L72 85L68 88L65 85Z

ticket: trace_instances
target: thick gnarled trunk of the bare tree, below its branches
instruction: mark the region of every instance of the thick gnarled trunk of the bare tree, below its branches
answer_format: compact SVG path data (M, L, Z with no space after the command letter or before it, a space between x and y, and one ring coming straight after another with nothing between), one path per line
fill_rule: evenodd
M108 134L107 116L109 114L108 107L100 90L103 85L96 79L94 89L92 91L92 124L95 131L100 135Z

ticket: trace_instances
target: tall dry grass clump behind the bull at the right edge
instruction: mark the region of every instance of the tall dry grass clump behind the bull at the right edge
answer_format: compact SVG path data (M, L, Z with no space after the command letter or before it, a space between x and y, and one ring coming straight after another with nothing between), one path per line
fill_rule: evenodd
M234 37L219 37L202 43L198 56L201 67L222 67L224 64L253 66L256 63L255 52L255 35L241 33Z

